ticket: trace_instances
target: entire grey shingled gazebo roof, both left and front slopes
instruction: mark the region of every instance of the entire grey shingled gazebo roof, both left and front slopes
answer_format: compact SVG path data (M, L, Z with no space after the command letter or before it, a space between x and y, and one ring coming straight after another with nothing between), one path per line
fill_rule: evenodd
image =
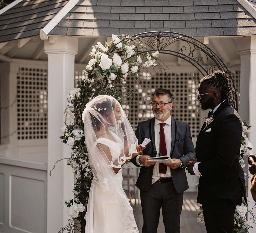
M23 0L0 15L0 42L38 35L66 4ZM249 10L240 4L252 6ZM173 31L189 36L256 35L256 1L80 0L48 35L111 36ZM253 9L252 9L253 8ZM26 12L25 16L24 11ZM249 11L253 14L250 14ZM253 12L252 12L253 11Z

